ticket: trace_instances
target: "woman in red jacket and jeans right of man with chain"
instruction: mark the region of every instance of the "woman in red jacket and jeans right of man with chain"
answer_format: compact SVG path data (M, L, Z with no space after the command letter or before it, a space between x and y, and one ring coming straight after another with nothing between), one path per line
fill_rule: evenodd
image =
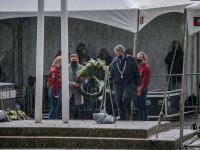
M138 120L147 121L148 109L146 105L148 84L150 82L151 68L147 65L147 56L144 52L137 54L141 78L141 95L137 96Z

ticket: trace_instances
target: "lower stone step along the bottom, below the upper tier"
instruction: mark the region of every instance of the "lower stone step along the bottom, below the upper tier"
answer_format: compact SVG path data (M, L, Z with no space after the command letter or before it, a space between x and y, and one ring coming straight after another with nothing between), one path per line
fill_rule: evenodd
M184 130L184 141L195 131ZM148 138L63 137L63 136L0 136L1 148L69 148L69 149L158 149L174 150L179 146L179 129Z

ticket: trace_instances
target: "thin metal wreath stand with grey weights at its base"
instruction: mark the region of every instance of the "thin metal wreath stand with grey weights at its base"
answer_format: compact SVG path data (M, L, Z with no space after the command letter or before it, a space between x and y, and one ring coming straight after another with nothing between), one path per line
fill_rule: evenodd
M111 89L110 89L110 80L109 80L109 68L115 61L116 61L116 59L109 66L104 66L105 77L104 77L104 86L103 86L103 95L102 95L102 101L101 101L101 106L100 106L100 113L93 113L93 119L97 123L103 123L104 124L104 123L114 123L114 122L116 122L115 111L114 111L113 100L112 100L112 93L111 93ZM110 96L110 99L111 99L113 116L108 115L107 112L106 112L106 94L107 94L107 92L109 93L109 96ZM102 109L102 107L103 107L103 109Z

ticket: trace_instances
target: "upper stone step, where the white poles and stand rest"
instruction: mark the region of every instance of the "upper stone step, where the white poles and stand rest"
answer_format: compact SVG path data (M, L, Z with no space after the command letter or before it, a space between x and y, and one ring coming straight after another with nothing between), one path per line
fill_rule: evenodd
M162 122L159 132L168 131L171 122ZM117 121L115 124L97 124L93 120L34 120L0 124L0 136L64 136L64 137L120 137L148 138L157 132L157 121Z

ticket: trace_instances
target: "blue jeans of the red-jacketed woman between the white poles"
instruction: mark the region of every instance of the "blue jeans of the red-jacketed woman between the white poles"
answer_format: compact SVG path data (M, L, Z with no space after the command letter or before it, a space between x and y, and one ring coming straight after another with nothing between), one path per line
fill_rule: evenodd
M51 99L51 110L49 113L49 119L57 119L57 114L58 114L58 110L59 110L59 106L61 102L61 93L62 93L62 90L61 88L59 88L58 89L59 98L55 98L53 94L53 88L51 87L49 89L49 97Z

